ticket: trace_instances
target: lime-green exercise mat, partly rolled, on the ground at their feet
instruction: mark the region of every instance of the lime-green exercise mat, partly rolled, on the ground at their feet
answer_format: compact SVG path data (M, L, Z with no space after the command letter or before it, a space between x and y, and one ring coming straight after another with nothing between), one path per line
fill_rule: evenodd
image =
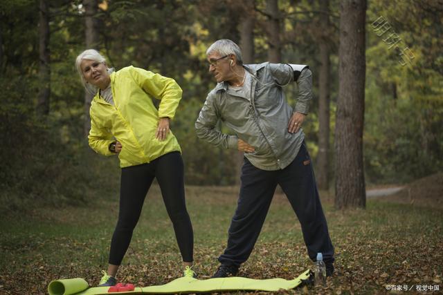
M109 287L92 287L88 289L88 283L82 278L71 278L65 280L53 280L48 285L50 295L98 295L98 294L172 294L172 293L195 293L195 292L219 292L219 291L268 291L275 292L280 289L289 290L297 287L302 280L309 278L309 269L293 280L283 278L269 278L266 280L255 280L253 278L242 278L239 276L230 278L210 278L198 280L197 278L177 278L165 285L136 287L130 292L111 292Z

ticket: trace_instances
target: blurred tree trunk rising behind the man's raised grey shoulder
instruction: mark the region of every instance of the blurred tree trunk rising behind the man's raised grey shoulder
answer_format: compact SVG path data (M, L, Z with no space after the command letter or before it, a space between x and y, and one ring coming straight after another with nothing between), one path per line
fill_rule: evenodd
M269 15L268 33L268 61L279 63L282 61L280 43L280 11L278 0L266 0L266 12Z

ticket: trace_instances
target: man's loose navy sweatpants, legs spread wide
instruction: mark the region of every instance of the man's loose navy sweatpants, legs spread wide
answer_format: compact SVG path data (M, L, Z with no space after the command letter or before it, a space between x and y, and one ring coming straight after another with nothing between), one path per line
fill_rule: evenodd
M244 158L237 209L228 231L228 246L219 256L221 264L239 267L251 255L277 184L300 221L309 258L315 260L321 252L325 263L334 262L334 247L318 197L311 159L303 142L293 162L277 171L258 169Z

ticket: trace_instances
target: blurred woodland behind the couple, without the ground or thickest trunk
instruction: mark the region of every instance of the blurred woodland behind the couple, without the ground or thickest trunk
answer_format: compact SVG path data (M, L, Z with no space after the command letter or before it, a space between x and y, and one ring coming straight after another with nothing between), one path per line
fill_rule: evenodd
M366 185L443 170L442 12L440 1L368 1L361 68ZM215 86L205 51L221 38L240 44L250 63L310 66L314 99L303 129L320 188L334 188L338 1L15 0L1 1L0 13L2 211L85 204L118 183L117 158L105 160L87 145L88 97L74 68L87 48L117 70L134 65L176 79L183 99L172 130L186 184L237 184L241 156L197 139L194 129ZM294 104L296 86L285 91Z

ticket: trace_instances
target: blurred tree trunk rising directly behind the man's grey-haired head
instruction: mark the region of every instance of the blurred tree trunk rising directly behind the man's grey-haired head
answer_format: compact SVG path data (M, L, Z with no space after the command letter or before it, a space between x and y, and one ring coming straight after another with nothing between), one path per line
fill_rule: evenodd
M254 11L254 0L244 1L244 17L239 23L240 32L240 48L242 49L242 57L244 64L252 64L254 62L254 25L255 16ZM243 152L239 151L237 153L237 170L235 183L240 184L240 175L242 173L243 165Z

